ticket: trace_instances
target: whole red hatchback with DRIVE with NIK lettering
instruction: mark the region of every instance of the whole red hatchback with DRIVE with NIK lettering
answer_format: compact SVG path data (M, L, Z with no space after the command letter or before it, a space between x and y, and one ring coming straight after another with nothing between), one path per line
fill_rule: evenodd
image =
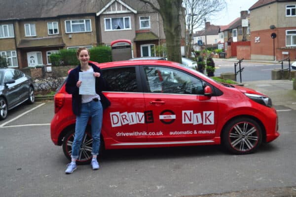
M255 90L218 83L169 61L121 61L97 64L110 85L104 95L101 148L148 148L222 144L248 154L279 136L271 99ZM68 159L74 135L72 96L65 82L54 97L51 139ZM88 126L78 163L91 160Z

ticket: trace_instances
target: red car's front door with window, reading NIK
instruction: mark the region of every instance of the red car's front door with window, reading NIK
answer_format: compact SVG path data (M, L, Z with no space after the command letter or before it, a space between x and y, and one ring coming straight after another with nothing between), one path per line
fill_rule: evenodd
M216 133L218 105L215 97L204 96L203 81L185 71L145 66L146 110L152 114L148 141L212 139Z

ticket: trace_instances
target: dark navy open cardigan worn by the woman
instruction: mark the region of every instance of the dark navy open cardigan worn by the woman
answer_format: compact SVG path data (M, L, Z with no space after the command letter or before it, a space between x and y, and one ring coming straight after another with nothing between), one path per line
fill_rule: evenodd
M88 63L94 69L94 72L100 72L100 77L95 77L96 79L96 93L100 95L103 108L110 106L110 101L102 94L102 91L108 90L108 85L104 78L102 77L101 69L92 64ZM70 71L68 79L66 82L66 92L72 95L72 110L76 116L80 115L81 112L81 95L79 95L79 88L76 86L79 80L79 72L82 72L81 66L78 65L73 70Z

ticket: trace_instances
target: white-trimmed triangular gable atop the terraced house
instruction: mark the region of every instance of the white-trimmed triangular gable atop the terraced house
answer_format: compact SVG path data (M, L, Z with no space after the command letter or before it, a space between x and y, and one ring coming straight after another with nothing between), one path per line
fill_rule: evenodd
M121 14L121 13L137 13L135 9L121 0L111 0L103 9L97 12L97 16L101 14Z

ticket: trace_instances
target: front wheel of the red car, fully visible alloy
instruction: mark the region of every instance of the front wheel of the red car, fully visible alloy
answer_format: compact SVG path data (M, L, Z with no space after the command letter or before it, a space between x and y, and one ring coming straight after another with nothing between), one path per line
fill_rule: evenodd
M262 141L259 124L251 118L237 118L229 122L222 133L223 145L234 154L256 151Z

